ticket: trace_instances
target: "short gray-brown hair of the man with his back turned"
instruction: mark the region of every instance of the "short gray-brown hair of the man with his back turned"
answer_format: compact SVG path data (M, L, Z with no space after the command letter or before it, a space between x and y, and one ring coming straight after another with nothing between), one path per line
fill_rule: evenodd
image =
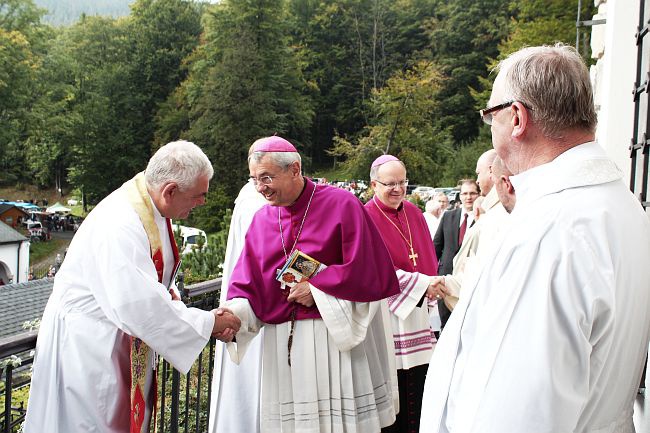
M548 138L579 128L596 130L596 109L589 70L575 48L555 46L523 48L501 61L505 98L519 101Z

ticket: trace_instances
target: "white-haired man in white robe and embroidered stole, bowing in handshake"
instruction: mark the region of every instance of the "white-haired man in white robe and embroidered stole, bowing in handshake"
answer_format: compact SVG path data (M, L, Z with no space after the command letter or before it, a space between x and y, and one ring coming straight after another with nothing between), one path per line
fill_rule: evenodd
M158 354L187 373L210 336L239 319L187 308L170 218L205 203L212 165L193 143L161 147L75 234L39 329L27 433L148 432Z

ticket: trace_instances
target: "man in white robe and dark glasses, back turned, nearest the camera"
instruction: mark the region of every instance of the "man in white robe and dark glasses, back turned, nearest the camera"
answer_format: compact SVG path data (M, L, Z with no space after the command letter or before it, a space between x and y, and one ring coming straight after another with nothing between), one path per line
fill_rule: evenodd
M421 431L633 432L648 216L594 141L575 49L524 48L498 70L480 114L517 202L433 355Z

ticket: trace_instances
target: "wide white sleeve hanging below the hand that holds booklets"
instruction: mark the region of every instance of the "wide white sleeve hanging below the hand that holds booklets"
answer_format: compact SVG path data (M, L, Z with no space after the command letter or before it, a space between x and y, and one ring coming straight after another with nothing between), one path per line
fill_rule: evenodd
M327 331L341 352L351 350L366 339L368 326L381 301L346 301L328 295L311 284L309 286Z

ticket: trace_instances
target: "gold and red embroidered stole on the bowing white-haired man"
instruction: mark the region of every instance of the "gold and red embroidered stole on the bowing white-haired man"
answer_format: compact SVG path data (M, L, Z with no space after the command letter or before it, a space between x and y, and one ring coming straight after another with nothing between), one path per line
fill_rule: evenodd
M133 179L127 181L122 185L124 191L126 192L127 199L133 209L138 214L144 230L147 233L147 238L149 239L149 248L151 252L151 259L153 264L156 267L156 273L158 274L158 282L162 283L163 279L163 270L164 270L164 260L163 260L163 249L162 242L160 240L160 232L158 226L154 221L154 211L153 204L147 192L147 187L144 179L144 172L138 173ZM167 221L167 227L169 232L169 237L172 245L172 251L174 253L174 268L178 263L178 248L176 246L176 241L174 240L174 234L170 230L169 220ZM174 277L173 272L170 276ZM148 362L149 354L155 355L154 352L139 338L131 337L131 413L130 413L130 433L143 433L148 432L148 426L144 424L145 418L145 383L148 376L151 377L151 383L153 386L153 396L154 401L151 408L151 421L153 424L153 431L156 431L156 412L157 412L157 400L158 400L158 390L157 390L157 378L156 370L154 370L153 365L150 365ZM154 360L155 362L155 360ZM144 430L143 430L144 427Z

